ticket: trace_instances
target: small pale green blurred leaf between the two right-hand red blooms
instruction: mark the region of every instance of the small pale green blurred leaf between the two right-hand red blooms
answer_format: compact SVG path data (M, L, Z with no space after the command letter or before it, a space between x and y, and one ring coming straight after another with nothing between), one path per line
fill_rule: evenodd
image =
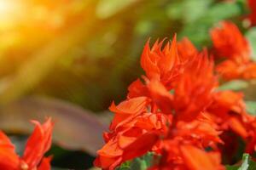
M248 82L243 80L233 80L233 81L224 83L218 88L218 90L241 90L247 87L248 87Z

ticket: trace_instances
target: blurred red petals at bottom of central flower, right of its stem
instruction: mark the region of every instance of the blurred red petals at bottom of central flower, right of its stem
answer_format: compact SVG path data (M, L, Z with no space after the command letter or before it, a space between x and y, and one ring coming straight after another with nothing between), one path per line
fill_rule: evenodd
M175 127L169 129L169 136L160 142L160 163L153 169L224 169L218 151L204 150L218 150L217 144L222 143L216 126L205 114L193 122L177 122Z

